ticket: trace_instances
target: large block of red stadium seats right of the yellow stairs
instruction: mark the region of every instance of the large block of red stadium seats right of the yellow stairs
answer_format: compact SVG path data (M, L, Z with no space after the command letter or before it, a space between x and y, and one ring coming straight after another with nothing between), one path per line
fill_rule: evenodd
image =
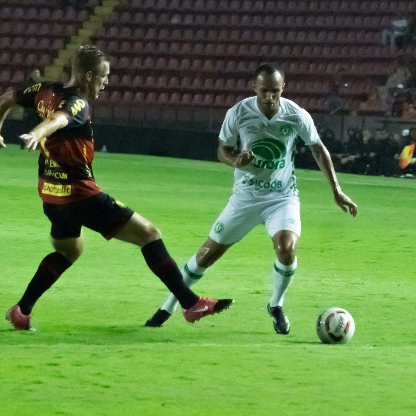
M227 108L250 95L253 70L272 62L287 73L285 97L310 111L328 110L332 76L342 69L348 108L389 75L395 55L381 45L381 28L397 10L411 14L416 5L124 0L93 37L112 59L109 96L101 101L127 104L140 89L145 104Z

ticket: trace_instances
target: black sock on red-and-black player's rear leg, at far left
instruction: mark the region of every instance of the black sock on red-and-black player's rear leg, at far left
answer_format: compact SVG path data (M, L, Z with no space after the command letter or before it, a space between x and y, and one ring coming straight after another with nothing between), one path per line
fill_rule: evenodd
M30 315L36 301L59 279L72 263L62 254L55 251L48 254L39 265L35 276L27 286L22 299L17 303L24 315Z

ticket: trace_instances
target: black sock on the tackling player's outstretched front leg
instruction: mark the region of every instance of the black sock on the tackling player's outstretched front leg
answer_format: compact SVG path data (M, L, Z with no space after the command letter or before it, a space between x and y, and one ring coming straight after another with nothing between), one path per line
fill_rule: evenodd
M188 309L198 302L198 296L183 281L181 271L178 269L175 260L169 255L162 240L155 240L146 244L141 252L150 270L175 295L183 308Z

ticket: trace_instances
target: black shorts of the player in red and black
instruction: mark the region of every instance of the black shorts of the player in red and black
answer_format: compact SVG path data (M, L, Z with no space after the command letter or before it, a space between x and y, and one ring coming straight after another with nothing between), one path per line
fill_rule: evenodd
M44 202L43 212L52 223L51 236L55 240L78 238L82 225L110 240L134 213L106 193L99 193L71 204L57 205Z

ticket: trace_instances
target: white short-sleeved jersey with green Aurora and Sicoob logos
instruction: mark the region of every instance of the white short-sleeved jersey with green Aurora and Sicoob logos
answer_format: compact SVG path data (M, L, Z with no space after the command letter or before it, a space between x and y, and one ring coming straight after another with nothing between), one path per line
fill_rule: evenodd
M251 149L253 161L234 169L233 193L250 196L297 195L292 160L295 139L306 145L320 142L312 117L293 101L280 97L279 111L268 120L257 106L257 97L249 97L227 111L220 131L225 146Z

